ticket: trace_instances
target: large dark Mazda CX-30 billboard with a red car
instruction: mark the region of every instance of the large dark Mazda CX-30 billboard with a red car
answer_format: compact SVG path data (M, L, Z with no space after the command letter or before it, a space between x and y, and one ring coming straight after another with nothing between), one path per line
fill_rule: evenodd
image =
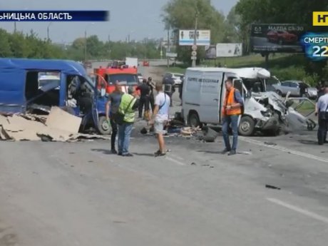
M255 53L302 53L303 25L297 24L252 24L250 49Z

